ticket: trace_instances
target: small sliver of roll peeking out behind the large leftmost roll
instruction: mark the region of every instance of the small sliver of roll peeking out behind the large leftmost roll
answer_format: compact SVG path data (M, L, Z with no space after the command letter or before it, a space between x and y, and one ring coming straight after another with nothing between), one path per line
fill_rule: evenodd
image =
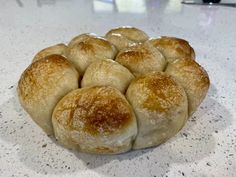
M47 48L41 50L40 52L38 52L34 56L32 62L35 62L37 60L40 60L42 58L45 58L45 57L47 57L49 55L53 55L53 54L65 56L66 55L66 49L67 49L67 46L65 44L62 44L62 43L47 47Z

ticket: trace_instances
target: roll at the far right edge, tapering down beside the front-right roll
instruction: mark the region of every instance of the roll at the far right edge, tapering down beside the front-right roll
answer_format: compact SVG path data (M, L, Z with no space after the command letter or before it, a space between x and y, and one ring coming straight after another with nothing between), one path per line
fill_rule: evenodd
M166 73L172 75L184 87L191 116L207 94L210 85L207 72L194 60L179 59L168 64Z

